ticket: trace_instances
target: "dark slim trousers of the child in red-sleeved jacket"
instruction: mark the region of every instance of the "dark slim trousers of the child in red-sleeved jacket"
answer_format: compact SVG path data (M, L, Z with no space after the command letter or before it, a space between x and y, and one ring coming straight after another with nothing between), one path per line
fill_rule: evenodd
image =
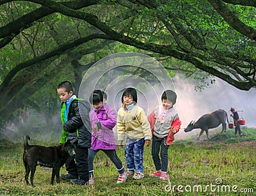
M161 147L161 151L160 151L160 147ZM156 170L162 170L163 172L167 172L168 148L169 146L166 146L166 139L164 138L159 139L155 136L153 137L151 155L152 155ZM159 152L160 152L161 160L159 158Z

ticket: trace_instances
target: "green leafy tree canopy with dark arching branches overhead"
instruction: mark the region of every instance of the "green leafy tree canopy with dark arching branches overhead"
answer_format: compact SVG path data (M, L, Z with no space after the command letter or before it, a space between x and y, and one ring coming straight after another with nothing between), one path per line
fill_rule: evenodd
M1 117L24 105L20 97L40 104L36 92L46 83L54 89L70 75L79 85L101 57L129 50L160 59L166 70L200 70L249 90L256 86L255 6L246 0L0 0Z

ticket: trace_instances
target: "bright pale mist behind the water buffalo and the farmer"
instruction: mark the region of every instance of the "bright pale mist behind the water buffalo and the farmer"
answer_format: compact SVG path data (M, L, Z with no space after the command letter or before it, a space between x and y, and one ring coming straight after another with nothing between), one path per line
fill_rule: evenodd
M230 121L230 108L234 107L239 117L245 120L245 126L256 127L255 110L256 110L256 90L241 91L236 87L230 86L223 80L216 79L215 84L202 92L195 91L195 84L176 77L174 79L177 93L177 111L179 112L182 128L186 128L192 120L197 120L204 114L217 109L223 109L228 114ZM221 125L220 127L221 128ZM228 124L227 124L228 128ZM243 126L241 126L243 128ZM192 132L195 133L196 130ZM177 133L176 138L183 138L189 133L185 133L183 129Z

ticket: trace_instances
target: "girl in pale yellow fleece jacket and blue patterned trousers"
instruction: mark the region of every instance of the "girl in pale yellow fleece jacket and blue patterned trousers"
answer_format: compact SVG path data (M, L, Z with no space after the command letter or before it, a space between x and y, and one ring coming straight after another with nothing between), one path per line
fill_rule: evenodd
M125 160L127 163L127 176L141 179L143 173L143 149L148 147L152 138L150 124L144 110L137 104L136 89L129 87L122 94L122 107L118 110L117 132L118 143L122 147L125 135Z

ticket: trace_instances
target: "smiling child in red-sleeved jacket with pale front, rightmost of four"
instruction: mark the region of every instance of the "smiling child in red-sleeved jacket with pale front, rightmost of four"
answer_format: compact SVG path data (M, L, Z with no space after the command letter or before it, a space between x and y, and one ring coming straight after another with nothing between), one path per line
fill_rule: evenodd
M148 116L150 128L152 130L152 158L156 167L156 172L150 176L167 180L168 148L173 144L174 134L180 130L180 119L173 108L176 103L177 94L168 89L162 94L162 105ZM160 150L161 148L161 150ZM161 151L161 152L160 152ZM159 152L161 160L159 158Z

